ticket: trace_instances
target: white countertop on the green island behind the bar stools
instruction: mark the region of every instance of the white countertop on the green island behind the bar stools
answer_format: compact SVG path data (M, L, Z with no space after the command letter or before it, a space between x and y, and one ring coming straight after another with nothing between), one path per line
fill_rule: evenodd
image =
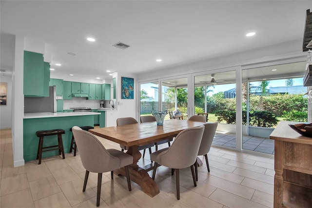
M24 113L24 119L35 119L35 118L54 118L54 117L66 117L66 116L86 116L86 115L99 115L96 112L68 112L68 113Z

